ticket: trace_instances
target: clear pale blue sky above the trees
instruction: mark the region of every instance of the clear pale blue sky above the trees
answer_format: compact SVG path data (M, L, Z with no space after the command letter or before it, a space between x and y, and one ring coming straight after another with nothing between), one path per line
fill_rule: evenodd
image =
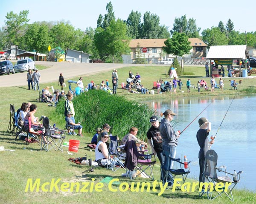
M106 5L110 0L12 0L1 3L0 27L4 26L7 12L19 13L29 10L29 23L35 21L69 21L75 28L85 30L87 27L96 28L99 14L104 16ZM187 2L187 3L186 3ZM131 10L146 11L157 14L160 24L173 28L175 17L186 14L187 19L196 19L196 24L201 31L212 26L218 26L220 20L226 25L230 18L235 30L240 32L256 31L255 2L231 0L197 0L197 1L172 1L172 0L111 0L116 19L127 20ZM246 3L247 8L241 6ZM245 14L243 14L245 13Z

